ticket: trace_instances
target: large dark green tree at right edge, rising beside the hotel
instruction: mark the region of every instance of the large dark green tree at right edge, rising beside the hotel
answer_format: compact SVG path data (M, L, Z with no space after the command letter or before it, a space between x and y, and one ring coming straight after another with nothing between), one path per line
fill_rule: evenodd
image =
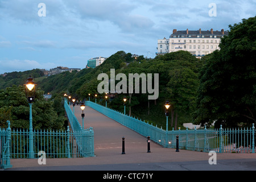
M251 126L256 116L256 16L229 26L200 72L197 123Z

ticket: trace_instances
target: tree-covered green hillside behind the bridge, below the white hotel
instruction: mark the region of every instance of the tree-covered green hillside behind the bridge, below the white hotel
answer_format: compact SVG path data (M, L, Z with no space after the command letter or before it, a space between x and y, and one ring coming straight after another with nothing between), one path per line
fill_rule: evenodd
M44 93L51 93L55 100L55 107L61 107L64 93L71 94L77 100L88 99L88 94L97 93L97 85L101 82L97 80L100 73L110 76L110 69L115 69L115 75L124 73L127 78L129 73L158 73L159 74L159 97L157 100L148 100L148 93L141 94L117 94L108 101L108 107L123 111L122 98L127 97L126 113L138 118L152 122L158 127L166 127L166 117L164 115L164 103L169 100L172 104L170 114L170 129L179 126L183 122L192 122L191 113L195 110L196 90L199 86L197 75L203 61L196 59L189 52L179 51L168 53L163 56L156 56L155 59L138 59L131 57L131 53L119 51L110 56L100 66L96 68L82 69L80 72L63 72L58 75L42 77L40 70L19 72L8 74L1 78L1 87L13 84L23 85L28 75L35 78L38 88ZM117 84L119 81L115 81ZM105 94L98 94L97 103L105 105ZM99 99L100 98L100 99ZM94 98L91 97L94 101ZM61 113L61 111L58 111Z

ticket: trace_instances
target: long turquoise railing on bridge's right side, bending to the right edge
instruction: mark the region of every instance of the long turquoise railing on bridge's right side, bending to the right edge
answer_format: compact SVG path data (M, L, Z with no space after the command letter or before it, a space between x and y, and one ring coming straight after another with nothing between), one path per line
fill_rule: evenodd
M144 137L150 136L154 142L167 148L176 148L176 136L179 136L179 147L184 150L216 151L216 152L255 152L255 128L250 129L207 129L166 131L152 126L141 119L130 117L120 111L86 101L92 107L109 118L129 127Z

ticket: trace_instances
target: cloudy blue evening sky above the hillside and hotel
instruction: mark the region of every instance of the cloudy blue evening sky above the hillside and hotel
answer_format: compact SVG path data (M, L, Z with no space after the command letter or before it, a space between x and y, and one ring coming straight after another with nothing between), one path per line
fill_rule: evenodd
M118 51L154 58L173 29L227 31L255 10L256 0L0 0L0 74L83 69Z

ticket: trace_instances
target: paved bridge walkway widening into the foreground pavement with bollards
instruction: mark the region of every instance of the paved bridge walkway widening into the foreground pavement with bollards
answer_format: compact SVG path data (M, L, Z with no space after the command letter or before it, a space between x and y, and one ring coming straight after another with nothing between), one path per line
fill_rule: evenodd
M95 157L47 159L42 166L38 159L11 159L13 168L7 170L256 170L256 154L217 154L217 165L210 165L208 153L175 152L154 142L148 153L147 141L142 135L88 106L84 113L85 128L94 130ZM75 115L82 125L79 106L75 106ZM121 154L122 137L125 137L124 155Z

